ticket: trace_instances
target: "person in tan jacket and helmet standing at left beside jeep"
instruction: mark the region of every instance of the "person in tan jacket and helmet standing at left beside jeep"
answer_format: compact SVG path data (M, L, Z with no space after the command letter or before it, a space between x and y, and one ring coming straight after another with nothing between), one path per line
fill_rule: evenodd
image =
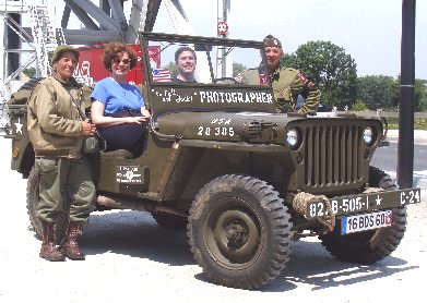
M91 165L82 150L84 136L96 133L95 124L83 120L81 85L72 76L79 51L59 46L52 56L51 76L43 80L28 101L27 129L39 174L37 217L43 229L39 256L47 260L84 259L78 238L95 209L95 185ZM69 202L63 199L63 193ZM55 223L69 215L69 228L61 247L56 246Z

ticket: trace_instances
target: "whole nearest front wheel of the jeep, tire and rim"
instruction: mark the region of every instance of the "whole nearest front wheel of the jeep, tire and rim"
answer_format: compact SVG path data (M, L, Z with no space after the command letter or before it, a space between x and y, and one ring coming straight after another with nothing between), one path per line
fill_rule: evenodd
M246 175L207 183L190 208L191 252L220 284L253 289L274 279L292 251L292 221L272 186Z

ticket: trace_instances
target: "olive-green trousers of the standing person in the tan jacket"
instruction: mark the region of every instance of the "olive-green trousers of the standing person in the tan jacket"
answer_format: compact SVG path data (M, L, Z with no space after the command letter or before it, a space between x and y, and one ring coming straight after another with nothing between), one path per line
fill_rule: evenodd
M86 155L82 158L36 158L39 174L40 221L58 222L69 213L70 221L84 223L95 209L95 184Z

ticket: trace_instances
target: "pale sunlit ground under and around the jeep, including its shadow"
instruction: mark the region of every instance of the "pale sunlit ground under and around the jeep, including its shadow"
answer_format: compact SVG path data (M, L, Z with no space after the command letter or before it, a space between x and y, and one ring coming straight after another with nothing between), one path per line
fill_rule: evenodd
M418 302L427 276L427 204L411 206L406 235L372 266L337 262L316 239L295 243L289 265L256 291L205 280L185 232L158 227L149 214L94 213L82 237L85 262L38 257L25 209L25 180L9 169L0 138L0 302Z

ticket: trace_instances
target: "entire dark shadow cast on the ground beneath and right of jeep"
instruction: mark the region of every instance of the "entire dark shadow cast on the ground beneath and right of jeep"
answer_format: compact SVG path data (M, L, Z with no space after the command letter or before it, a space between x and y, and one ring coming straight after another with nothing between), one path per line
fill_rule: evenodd
M171 266L195 264L186 231L163 228L147 213L94 213L81 238L81 247L86 255L115 253ZM294 243L285 270L258 291L289 291L299 283L309 284L316 291L375 280L416 268L393 256L369 266L343 263L332 257L319 241L304 240ZM198 274L194 278L209 282L204 274Z

